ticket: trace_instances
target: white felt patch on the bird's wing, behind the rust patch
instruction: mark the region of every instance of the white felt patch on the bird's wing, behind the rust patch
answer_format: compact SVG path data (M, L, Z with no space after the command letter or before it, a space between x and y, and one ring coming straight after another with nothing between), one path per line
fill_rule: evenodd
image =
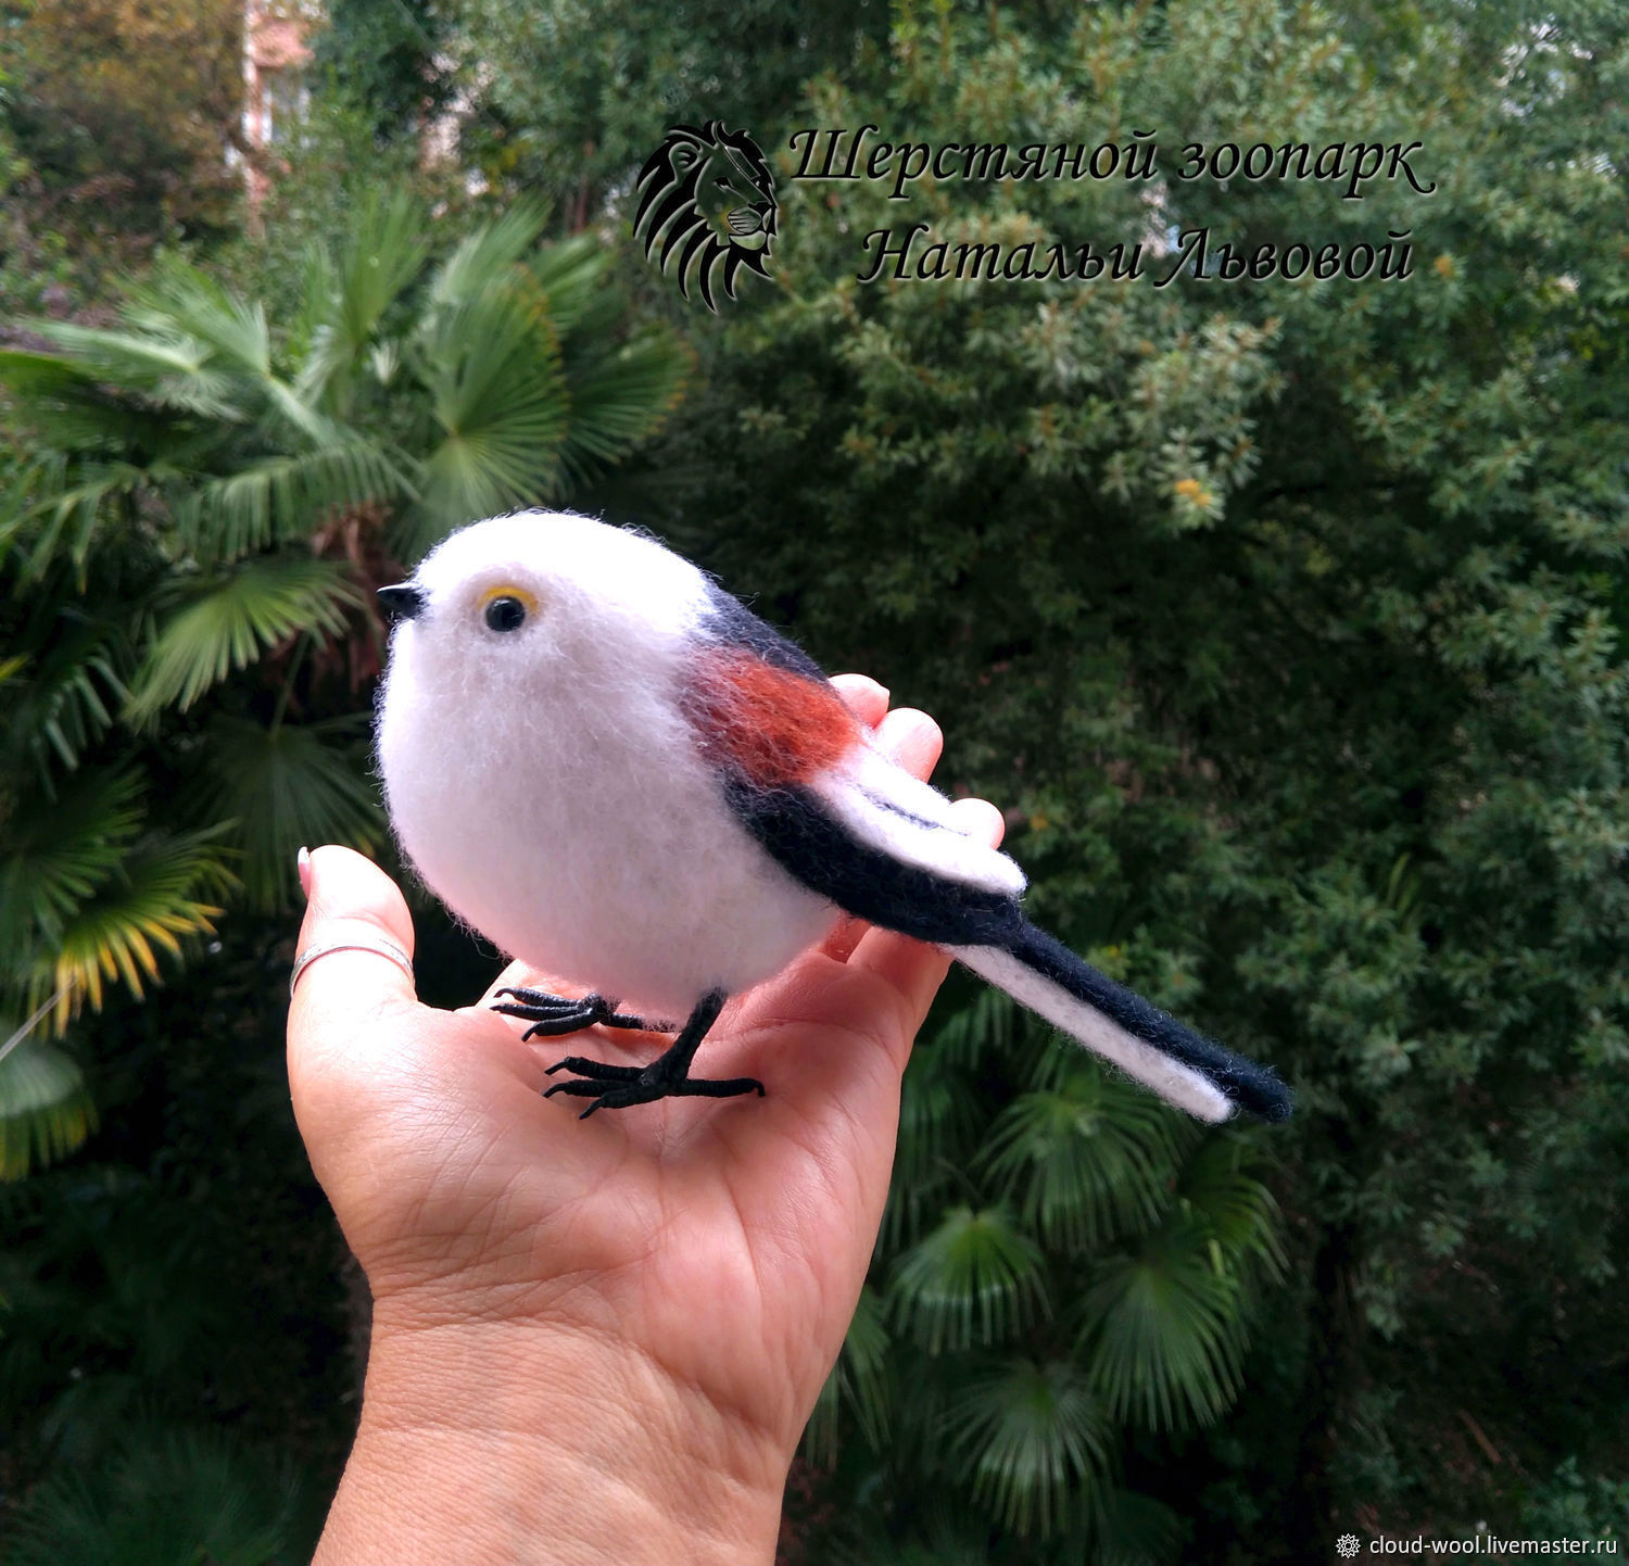
M1013 860L968 836L943 794L870 745L857 746L808 787L860 842L901 864L1007 896L1026 885Z

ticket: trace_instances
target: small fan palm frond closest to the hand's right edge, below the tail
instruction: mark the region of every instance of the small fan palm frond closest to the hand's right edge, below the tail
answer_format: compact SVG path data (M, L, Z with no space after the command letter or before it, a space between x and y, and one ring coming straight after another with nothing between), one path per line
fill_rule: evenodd
M894 1265L891 1304L930 1354L1000 1343L1047 1312L1041 1251L1003 1207L955 1207Z

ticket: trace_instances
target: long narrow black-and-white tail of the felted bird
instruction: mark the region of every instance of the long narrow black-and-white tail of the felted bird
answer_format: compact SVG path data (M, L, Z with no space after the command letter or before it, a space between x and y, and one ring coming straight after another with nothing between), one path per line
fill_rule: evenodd
M1272 1071L1183 1027L1028 919L1000 947L948 950L1189 1115L1222 1121L1248 1110L1289 1120L1290 1092Z

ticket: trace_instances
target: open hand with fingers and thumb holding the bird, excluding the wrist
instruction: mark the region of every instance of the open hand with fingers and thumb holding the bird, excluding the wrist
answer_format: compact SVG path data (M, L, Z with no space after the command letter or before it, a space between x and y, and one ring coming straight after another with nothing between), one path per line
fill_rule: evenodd
M878 743L927 776L932 720L885 717L870 681L839 684ZM999 836L992 807L968 808L973 829ZM401 893L360 856L319 851L301 948L370 930L411 950ZM562 984L520 965L481 1004L438 1012L375 953L313 963L290 1014L295 1110L368 1274L376 1333L547 1330L656 1421L722 1421L790 1458L860 1294L901 1074L945 966L930 947L844 926L731 1001L702 1045L709 1076L759 1077L767 1098L578 1121L570 1098L541 1095L560 1054L645 1062L665 1040L595 1028L525 1043L525 1023L487 1002L500 986Z

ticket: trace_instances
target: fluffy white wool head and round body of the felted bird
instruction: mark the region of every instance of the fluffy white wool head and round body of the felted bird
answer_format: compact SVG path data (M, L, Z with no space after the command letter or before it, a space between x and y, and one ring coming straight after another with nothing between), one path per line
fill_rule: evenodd
M570 572L551 574L551 554ZM837 909L735 818L681 712L707 608L694 565L525 513L453 534L417 582L430 606L391 639L380 763L401 846L454 914L671 1022L824 939ZM479 621L479 593L503 583L539 598L508 636Z

